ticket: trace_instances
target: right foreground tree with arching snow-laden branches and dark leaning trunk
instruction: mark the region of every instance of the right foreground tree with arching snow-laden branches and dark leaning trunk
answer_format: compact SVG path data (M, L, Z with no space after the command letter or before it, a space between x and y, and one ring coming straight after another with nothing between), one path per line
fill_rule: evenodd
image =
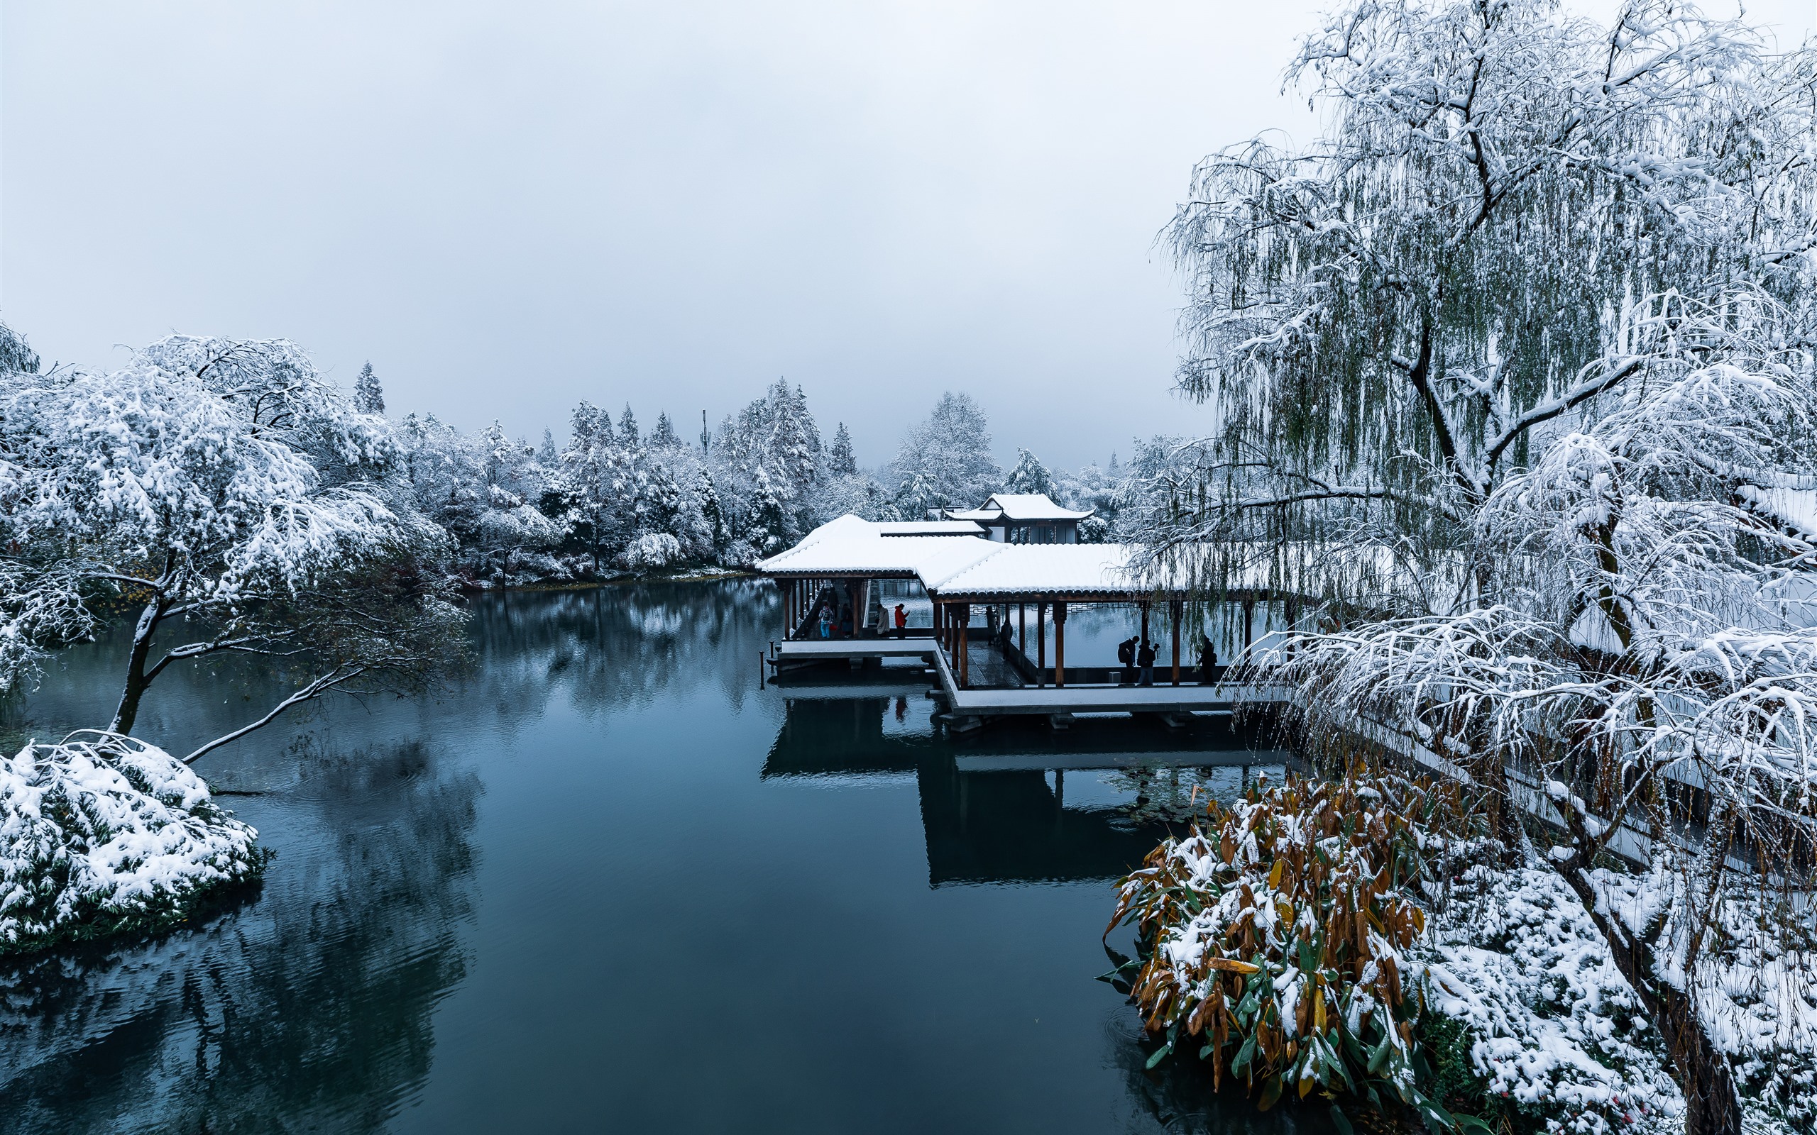
M1510 815L1543 788L1566 832L1543 861L1664 1035L1690 1130L1728 1131L1743 1077L1773 1099L1817 1068L1817 548L1737 494L1817 485L1817 380L1808 349L1737 336L1735 303L1652 318L1637 381L1475 510L1477 603L1303 636L1285 674L1316 732L1388 723Z

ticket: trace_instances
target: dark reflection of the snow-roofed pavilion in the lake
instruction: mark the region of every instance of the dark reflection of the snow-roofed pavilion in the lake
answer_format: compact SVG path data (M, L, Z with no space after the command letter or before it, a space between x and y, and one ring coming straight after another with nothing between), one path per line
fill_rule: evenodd
M1081 719L1065 734L1005 726L988 746L967 745L956 757L941 732L918 726L932 710L919 688L879 683L874 696L849 686L838 699L783 697L763 777L914 774L932 886L1116 879L1183 830L1208 795L1234 795L1250 775L1279 775L1292 759L1228 721L1170 730L1128 717Z

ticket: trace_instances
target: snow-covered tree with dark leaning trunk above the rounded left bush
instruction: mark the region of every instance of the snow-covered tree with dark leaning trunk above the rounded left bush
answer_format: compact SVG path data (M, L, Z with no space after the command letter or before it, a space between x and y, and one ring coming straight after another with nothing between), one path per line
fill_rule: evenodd
M260 654L300 676L191 761L329 690L425 681L460 619L396 458L385 421L282 340L171 336L111 374L0 374L0 681L85 634L102 594L140 608L114 734L173 665Z

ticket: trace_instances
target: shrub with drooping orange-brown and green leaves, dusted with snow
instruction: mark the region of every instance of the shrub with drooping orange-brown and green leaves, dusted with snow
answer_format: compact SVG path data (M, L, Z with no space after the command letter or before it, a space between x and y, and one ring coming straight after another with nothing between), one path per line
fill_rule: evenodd
M1388 1091L1434 1126L1481 1126L1419 1090L1405 962L1425 930L1415 893L1490 848L1481 828L1455 785L1392 775L1288 777L1212 803L1121 883L1110 921L1136 926L1119 986L1165 1037L1148 1066L1196 1048L1214 1082L1259 1086L1261 1108L1312 1091L1381 1108Z

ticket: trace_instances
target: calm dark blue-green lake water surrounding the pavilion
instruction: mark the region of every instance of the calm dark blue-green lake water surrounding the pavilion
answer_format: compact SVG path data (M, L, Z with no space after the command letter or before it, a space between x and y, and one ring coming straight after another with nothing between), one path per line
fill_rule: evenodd
M209 754L278 852L263 886L0 966L0 1130L1325 1131L1145 1073L1094 981L1112 881L1237 790L1241 737L954 743L918 670L760 690L774 594L489 596L440 696ZM15 730L104 723L120 656L60 656ZM274 688L174 672L136 732L187 752ZM1216 766L1079 768L1130 754Z

